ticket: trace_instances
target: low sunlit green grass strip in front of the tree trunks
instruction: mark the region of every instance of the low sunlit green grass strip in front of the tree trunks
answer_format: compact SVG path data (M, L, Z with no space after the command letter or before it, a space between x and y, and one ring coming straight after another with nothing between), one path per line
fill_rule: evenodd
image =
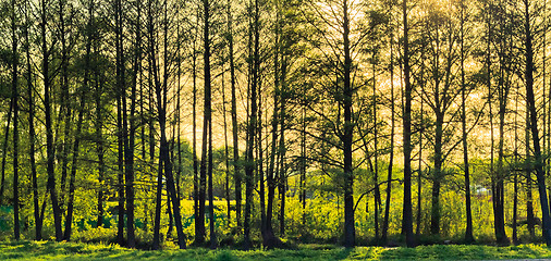
M542 245L512 247L423 246L417 248L357 247L345 249L331 245L301 245L298 250L132 250L114 245L52 241L0 243L0 260L483 260L544 259L551 249Z

